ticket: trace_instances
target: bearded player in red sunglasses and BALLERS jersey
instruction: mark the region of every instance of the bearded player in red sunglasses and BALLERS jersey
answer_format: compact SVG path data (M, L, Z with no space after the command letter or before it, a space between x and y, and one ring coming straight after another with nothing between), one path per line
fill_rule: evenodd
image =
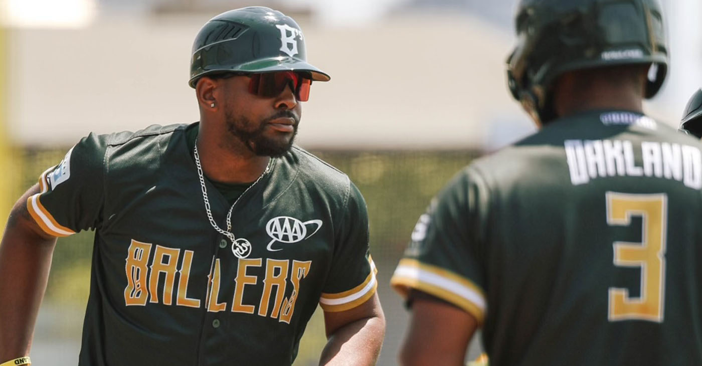
M90 134L13 208L0 363L29 364L55 238L95 229L81 366L291 365L318 303L320 363L373 365L385 320L366 204L292 145L328 80L279 11L209 20L192 48L199 123Z

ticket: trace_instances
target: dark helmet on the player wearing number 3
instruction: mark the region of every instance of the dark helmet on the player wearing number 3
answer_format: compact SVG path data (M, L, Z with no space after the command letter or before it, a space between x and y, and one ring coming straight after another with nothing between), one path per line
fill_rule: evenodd
M651 64L645 93L651 98L668 71L658 0L520 0L515 25L508 86L543 123L556 117L550 89L564 72Z

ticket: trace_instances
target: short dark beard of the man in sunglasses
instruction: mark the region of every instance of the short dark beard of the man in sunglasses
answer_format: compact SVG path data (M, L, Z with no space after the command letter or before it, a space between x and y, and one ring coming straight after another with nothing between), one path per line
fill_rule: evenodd
M258 156L281 157L290 150L295 137L298 134L298 124L300 119L289 110L284 110L263 119L258 126L246 117L234 117L230 111L225 112L227 131L244 143L244 146ZM265 129L268 122L281 117L295 119L293 124L293 134L290 138L285 138L282 133L274 132L274 136L266 136Z

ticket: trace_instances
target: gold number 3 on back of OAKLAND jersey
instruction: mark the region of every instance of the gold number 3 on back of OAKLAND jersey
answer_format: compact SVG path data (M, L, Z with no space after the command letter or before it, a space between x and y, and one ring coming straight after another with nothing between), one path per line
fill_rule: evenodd
M630 297L628 289L609 287L609 321L663 322L668 196L607 192L606 199L610 226L629 226L632 216L642 218L641 242L613 244L614 266L641 268L640 297Z

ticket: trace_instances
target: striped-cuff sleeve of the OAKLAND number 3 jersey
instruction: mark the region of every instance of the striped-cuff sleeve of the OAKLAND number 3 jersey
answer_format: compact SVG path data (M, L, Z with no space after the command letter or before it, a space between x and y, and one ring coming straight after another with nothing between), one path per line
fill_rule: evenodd
M486 311L480 261L486 190L470 169L461 171L419 217L390 285L407 298L430 294L470 313L480 324Z

